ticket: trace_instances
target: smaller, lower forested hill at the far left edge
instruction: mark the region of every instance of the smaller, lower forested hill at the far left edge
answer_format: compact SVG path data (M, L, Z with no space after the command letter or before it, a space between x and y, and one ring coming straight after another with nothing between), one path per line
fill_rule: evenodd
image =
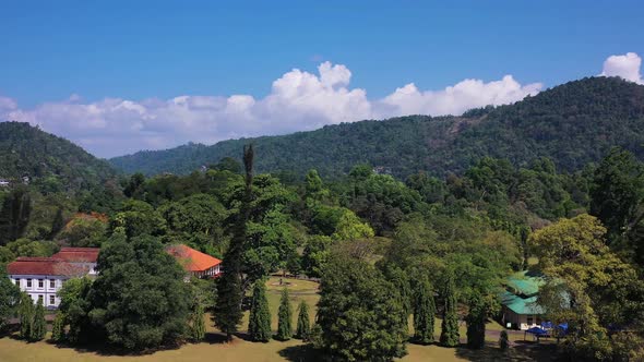
M114 168L75 144L28 123L0 122L0 179L49 182L62 190L97 185Z

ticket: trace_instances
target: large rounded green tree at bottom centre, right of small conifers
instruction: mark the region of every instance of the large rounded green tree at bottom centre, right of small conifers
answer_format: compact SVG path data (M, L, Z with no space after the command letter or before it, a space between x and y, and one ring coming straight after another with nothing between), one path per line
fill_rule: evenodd
M334 255L320 287L315 339L330 357L391 361L406 354L398 291L372 265Z

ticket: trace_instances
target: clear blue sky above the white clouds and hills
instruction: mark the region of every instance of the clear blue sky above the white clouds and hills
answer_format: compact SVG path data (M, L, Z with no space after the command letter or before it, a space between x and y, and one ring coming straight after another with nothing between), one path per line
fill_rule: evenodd
M0 97L15 104L14 116L16 109L25 113L71 95L76 95L71 102L83 105L178 96L260 100L293 69L317 75L323 61L350 70L350 85L345 80L332 87L363 89L370 100L410 83L444 89L465 79L487 83L506 74L544 89L599 74L610 56L644 55L642 19L642 1L4 1ZM48 122L43 114L23 117ZM341 119L357 120L351 117ZM90 125L114 122L103 121ZM195 141L325 123L302 122L211 130L216 134ZM49 128L99 155L136 148L107 152L96 146L94 133L99 132ZM141 147L169 147L188 136L157 137Z

